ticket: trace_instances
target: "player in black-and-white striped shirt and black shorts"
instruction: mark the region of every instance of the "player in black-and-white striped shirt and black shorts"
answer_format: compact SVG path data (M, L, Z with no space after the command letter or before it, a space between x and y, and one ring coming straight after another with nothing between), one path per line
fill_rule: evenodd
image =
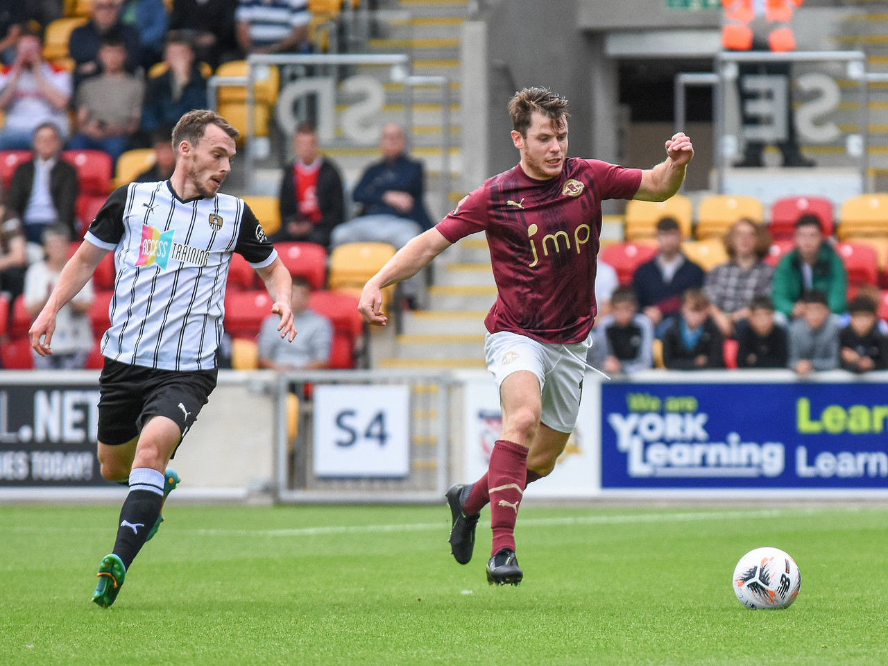
M132 560L160 527L163 501L178 484L167 464L216 387L233 252L266 282L281 338L296 337L289 271L246 203L218 192L238 136L214 111L183 115L172 131L170 179L115 189L29 332L37 353L52 353L59 309L114 252L111 327L101 342L99 464L103 477L128 483L130 492L114 550L99 565L92 600L101 607L114 603Z

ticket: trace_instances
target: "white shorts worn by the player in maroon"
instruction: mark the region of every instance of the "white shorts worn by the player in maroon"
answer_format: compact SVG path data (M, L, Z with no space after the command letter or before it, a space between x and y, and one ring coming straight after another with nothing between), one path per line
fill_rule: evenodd
M558 432L573 432L580 411L591 336L573 345L537 342L509 331L488 333L484 355L497 387L511 373L527 370L540 380L543 412L540 421Z

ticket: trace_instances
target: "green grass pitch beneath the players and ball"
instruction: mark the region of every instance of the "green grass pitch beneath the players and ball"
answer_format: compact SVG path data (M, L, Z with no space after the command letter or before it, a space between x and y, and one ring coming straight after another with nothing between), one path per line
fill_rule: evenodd
M0 664L888 663L888 509L534 506L524 583L449 555L446 506L195 506L166 522L115 606L90 602L117 507L0 507ZM796 603L749 611L733 567L777 546Z

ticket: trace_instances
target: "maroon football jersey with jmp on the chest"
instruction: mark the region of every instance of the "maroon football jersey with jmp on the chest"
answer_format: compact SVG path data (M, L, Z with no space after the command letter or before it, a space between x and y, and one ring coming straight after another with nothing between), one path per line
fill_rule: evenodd
M487 329L582 342L597 313L601 201L630 199L640 185L640 169L571 157L556 178L530 178L519 164L460 202L436 228L449 242L487 233L498 292Z

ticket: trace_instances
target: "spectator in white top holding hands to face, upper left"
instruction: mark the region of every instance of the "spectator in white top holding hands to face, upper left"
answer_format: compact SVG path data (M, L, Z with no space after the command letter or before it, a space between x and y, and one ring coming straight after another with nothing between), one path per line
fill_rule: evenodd
M70 72L44 60L35 32L22 32L15 49L15 62L0 69L0 109L6 112L0 150L27 150L42 123L55 123L63 136L68 131Z

